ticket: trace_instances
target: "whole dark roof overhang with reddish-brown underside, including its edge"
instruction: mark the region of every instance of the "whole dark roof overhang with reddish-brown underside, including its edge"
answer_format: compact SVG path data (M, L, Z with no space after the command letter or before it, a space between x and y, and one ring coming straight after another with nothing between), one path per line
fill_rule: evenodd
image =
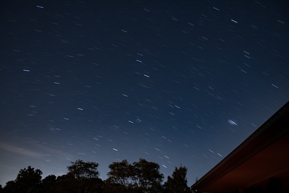
M212 170L194 183L198 192L268 189L270 179L289 190L289 102Z

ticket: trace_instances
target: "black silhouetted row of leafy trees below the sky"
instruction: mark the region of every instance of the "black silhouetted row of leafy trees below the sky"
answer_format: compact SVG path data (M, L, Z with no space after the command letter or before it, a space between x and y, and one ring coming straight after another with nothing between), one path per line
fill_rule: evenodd
M127 160L113 162L108 167L108 178L101 180L98 163L77 160L68 166L67 174L56 177L49 175L41 179L39 169L21 169L13 181L8 181L0 192L5 193L192 193L187 185L187 170L185 166L175 167L172 176L163 182L164 175L160 173L158 163L139 159L132 164Z

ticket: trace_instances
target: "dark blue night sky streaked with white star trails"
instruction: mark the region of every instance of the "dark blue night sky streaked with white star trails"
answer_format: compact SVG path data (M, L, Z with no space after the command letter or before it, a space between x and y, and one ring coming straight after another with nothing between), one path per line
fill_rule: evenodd
M288 5L1 1L0 184L144 158L192 185L289 100Z

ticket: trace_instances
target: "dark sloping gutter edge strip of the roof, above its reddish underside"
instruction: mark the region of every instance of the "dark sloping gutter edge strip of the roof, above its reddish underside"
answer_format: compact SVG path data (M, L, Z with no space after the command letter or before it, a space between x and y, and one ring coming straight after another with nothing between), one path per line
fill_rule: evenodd
M191 186L192 190L203 190L208 185L214 183L216 180L247 161L253 155L272 144L275 140L288 133L288 114L289 102L282 106L273 116L271 116L207 174L194 183Z

